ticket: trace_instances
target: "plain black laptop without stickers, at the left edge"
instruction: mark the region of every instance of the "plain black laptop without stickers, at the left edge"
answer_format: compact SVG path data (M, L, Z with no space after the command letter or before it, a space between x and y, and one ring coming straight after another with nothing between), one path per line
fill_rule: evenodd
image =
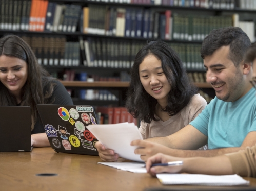
M29 152L31 113L29 106L0 106L0 152Z

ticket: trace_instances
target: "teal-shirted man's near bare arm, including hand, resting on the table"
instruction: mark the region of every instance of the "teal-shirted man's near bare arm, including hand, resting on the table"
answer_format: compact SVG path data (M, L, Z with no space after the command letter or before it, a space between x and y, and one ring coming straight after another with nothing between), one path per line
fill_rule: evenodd
M132 145L142 147L140 149L136 149L135 154L140 154L141 159L144 161L146 161L150 156L159 152L167 155L171 155L171 156L176 156L176 157L195 157L195 156L213 157L213 156L223 155L226 153L233 153L240 150L244 150L246 147L252 147L253 145L256 144L255 137L256 137L256 131L252 131L247 134L241 147L230 147L230 148L213 149L213 150L205 150L205 151L179 150L179 149L167 148L160 144L153 143L152 141L153 139L151 139L151 142L143 141L143 140L135 140L135 141L132 141ZM160 137L157 137L157 138L160 138ZM187 143L185 145L188 146L189 144ZM186 148L183 148L183 149L186 149Z

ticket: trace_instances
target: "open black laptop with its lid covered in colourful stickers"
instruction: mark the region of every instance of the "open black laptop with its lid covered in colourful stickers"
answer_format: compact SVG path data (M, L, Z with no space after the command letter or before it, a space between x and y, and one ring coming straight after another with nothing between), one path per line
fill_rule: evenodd
M92 106L38 104L37 110L56 152L98 155L97 139L86 128L97 124Z

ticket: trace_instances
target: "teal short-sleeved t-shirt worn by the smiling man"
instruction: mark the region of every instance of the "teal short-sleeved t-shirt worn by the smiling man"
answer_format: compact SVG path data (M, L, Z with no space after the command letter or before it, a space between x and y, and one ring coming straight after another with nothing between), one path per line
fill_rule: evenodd
M256 96L251 88L235 102L214 98L190 125L208 136L209 149L240 147L256 131Z

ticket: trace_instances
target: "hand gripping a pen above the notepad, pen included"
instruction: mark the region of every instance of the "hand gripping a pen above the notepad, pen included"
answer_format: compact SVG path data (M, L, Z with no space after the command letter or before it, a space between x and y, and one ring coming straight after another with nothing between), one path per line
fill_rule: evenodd
M182 171L183 164L182 158L158 153L148 158L146 169L152 176L157 173L179 173Z

